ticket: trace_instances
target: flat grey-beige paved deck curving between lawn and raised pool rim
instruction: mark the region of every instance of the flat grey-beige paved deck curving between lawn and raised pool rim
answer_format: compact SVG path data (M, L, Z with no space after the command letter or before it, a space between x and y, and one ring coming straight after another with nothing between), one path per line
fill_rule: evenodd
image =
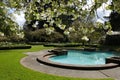
M53 67L36 61L36 58L40 54L44 54L47 52L48 50L25 53L28 56L22 58L20 63L24 67L27 67L29 69L42 73L57 75L57 76L79 77L79 78L114 78L115 80L120 80L120 67L104 69L104 70L75 70L75 69Z

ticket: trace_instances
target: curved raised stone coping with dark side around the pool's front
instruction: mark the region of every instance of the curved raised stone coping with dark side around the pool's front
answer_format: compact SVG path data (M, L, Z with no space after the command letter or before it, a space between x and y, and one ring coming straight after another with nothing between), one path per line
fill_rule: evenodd
M46 54L40 54L36 60L40 63L54 66L54 67L60 67L60 68L68 68L68 69L81 69L81 70L102 70L102 69L109 69L118 67L119 64L116 63L107 63L107 64L100 64L100 65L74 65L74 64L64 64L59 62L53 62L49 60L50 57L55 56L55 54L48 52Z

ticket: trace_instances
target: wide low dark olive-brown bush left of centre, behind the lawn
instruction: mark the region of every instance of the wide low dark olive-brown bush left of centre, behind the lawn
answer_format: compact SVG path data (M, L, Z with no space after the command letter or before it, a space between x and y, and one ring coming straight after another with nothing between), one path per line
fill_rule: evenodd
M58 32L47 34L45 29L25 32L25 38L29 42L62 42L64 36Z

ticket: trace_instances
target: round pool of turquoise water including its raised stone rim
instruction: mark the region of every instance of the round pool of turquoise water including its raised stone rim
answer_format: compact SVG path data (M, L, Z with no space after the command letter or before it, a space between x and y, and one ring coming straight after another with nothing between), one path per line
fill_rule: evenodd
M105 63L105 58L119 56L110 51L50 51L37 57L37 61L45 65L69 69L108 69L119 66L116 63Z

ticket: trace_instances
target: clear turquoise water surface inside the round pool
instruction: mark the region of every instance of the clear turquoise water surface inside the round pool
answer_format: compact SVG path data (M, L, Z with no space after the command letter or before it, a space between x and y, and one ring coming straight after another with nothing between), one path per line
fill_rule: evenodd
M65 64L97 65L105 64L105 58L112 56L118 56L118 54L115 52L68 50L67 55L53 56L49 60Z

